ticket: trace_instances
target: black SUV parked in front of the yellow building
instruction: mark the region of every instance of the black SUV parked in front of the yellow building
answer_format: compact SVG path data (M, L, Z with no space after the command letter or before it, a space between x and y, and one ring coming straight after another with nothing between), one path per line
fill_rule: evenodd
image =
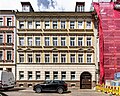
M36 93L41 93L42 91L56 91L59 94L68 90L67 84L62 80L49 80L44 81L42 84L34 85L33 90Z

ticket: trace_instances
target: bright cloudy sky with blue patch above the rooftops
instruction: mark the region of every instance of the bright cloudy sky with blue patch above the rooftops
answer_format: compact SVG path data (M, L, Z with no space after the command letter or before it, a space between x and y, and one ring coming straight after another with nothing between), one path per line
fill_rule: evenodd
M92 0L0 0L0 10L21 11L20 2L28 1L35 11L74 11L76 2L85 2L85 11L89 11L92 2Z

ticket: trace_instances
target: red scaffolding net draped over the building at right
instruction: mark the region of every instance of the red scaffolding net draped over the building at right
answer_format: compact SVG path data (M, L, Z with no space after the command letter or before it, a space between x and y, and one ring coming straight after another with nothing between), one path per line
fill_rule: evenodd
M114 73L120 72L120 10L115 9L118 3L119 0L93 3L99 18L101 84L113 80Z

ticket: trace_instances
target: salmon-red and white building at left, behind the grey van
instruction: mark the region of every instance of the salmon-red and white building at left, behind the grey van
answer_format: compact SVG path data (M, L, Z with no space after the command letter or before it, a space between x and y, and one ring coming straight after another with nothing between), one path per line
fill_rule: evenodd
M15 12L0 10L0 70L12 71L15 75Z

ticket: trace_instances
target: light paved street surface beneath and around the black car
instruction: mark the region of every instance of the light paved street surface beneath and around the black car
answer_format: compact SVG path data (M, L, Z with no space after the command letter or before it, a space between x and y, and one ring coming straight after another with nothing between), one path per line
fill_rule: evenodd
M92 89L68 88L68 92L63 94L53 92L35 93L32 88L14 88L9 91L0 90L6 95L2 96L110 96ZM0 95L1 96L1 95Z

